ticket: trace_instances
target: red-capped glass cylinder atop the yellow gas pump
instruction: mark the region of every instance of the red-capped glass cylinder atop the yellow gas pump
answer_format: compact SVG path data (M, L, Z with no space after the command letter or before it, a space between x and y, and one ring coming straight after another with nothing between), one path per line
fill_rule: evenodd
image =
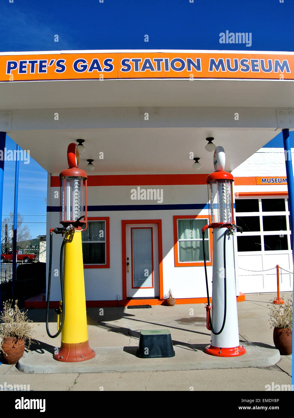
M66 227L83 217L79 221L77 229L84 230L87 225L87 175L78 168L68 168L63 170L59 177L61 187L60 223Z

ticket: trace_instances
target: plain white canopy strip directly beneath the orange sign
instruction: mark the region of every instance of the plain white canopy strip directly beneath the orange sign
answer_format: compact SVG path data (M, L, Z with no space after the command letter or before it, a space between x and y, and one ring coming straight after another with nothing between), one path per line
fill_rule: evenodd
M119 106L294 107L294 81L73 80L0 82L0 110Z

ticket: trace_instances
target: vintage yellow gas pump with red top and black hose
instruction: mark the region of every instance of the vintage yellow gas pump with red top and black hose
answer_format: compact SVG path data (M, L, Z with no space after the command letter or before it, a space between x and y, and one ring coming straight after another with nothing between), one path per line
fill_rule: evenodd
M46 330L51 338L61 333L61 347L54 359L61 362L81 362L95 357L88 340L81 240L81 232L87 228L87 175L79 169L77 144L68 145L67 158L68 168L59 175L60 223L63 227L50 230ZM53 232L64 236L60 253L62 301L56 309L58 332L55 335L51 335L48 329Z

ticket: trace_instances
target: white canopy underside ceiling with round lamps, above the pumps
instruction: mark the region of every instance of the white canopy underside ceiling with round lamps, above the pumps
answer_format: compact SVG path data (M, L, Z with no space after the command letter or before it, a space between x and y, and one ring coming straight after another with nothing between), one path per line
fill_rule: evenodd
M215 145L226 152L226 170L232 171L271 140L274 130L220 128L124 128L83 130L14 131L9 135L49 173L66 168L66 150L77 138L85 140L80 168L87 158L94 159L92 174L108 173L195 173L189 158L200 157L197 173L213 171L213 153L205 150L205 138L214 137ZM99 160L99 152L104 159ZM53 158L52 158L53 155Z

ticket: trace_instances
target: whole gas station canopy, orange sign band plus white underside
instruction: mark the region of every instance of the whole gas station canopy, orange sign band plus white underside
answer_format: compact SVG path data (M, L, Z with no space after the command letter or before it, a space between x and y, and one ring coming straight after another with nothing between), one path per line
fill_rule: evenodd
M92 173L208 173L208 137L232 171L294 123L293 74L289 52L2 53L0 130L49 173L78 138Z

